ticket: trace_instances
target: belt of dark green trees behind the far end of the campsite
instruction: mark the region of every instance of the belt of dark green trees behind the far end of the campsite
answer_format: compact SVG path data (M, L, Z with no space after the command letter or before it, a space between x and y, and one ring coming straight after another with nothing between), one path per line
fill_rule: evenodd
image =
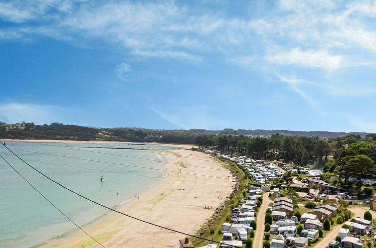
M212 146L223 152L250 155L254 158L283 158L286 162L298 165L317 161L319 165L323 165L329 156L338 157L346 145L360 140L373 141L373 136L370 134L362 139L360 135L348 134L344 137L320 139L318 136L283 136L279 133L271 135L270 138L200 135L196 139L196 144L203 148Z

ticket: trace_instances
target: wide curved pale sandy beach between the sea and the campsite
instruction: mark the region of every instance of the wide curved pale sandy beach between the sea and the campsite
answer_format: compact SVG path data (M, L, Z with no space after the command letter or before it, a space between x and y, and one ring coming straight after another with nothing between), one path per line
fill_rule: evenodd
M215 208L231 194L235 179L222 164L204 153L187 150L187 147L165 152L170 154L163 155L165 160L173 163L163 166L176 172L165 172L165 179L140 195L140 199L134 199L118 210L161 226L195 234L212 216ZM179 239L185 238L117 213L109 213L84 227L84 230L105 247L111 248L176 248L179 247ZM100 247L80 230L51 240L43 247L81 246Z

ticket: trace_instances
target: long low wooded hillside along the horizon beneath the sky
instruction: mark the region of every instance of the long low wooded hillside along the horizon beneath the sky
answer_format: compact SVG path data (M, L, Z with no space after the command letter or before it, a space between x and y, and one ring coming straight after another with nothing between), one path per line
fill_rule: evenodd
M100 128L79 125L52 123L35 125L34 123L0 123L0 136L18 139L72 139L72 140L118 140L138 142L165 142L193 144L199 135L244 135L249 137L270 137L279 133L285 136L318 136L319 138L343 137L356 134L365 137L367 132L328 132L328 131L290 131L290 130L246 130L225 128L223 130L206 129L148 129L139 127Z

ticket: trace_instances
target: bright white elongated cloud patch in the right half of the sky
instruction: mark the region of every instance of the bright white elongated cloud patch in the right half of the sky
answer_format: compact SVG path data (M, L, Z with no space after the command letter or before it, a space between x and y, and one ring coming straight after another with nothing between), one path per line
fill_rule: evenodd
M280 65L294 65L327 71L340 69L344 61L342 56L331 55L325 50L302 51L300 48L294 48L287 52L269 56L267 60Z

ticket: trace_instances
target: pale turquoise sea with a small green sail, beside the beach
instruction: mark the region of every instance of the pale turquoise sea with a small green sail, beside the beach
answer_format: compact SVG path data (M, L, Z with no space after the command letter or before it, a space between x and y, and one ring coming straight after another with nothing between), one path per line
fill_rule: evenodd
M157 149L176 149L114 142L11 141L6 146L53 180L113 208L131 201L163 178L163 152ZM0 154L78 225L85 227L109 212L48 180L2 145ZM38 247L77 230L1 158L0 196L1 248Z

